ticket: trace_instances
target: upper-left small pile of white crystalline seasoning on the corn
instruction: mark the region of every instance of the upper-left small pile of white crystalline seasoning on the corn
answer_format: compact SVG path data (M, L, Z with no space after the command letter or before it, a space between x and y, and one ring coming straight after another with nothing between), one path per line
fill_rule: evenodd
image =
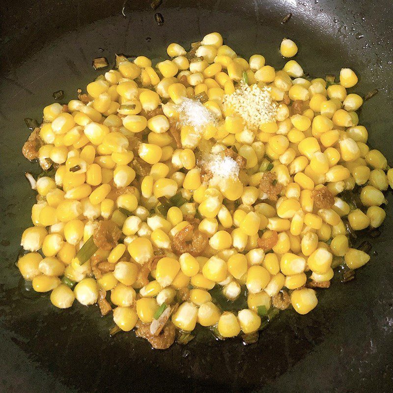
M209 123L216 123L216 117L200 101L184 98L183 102L177 106L179 112L179 124L181 126L191 126L198 133L203 131Z

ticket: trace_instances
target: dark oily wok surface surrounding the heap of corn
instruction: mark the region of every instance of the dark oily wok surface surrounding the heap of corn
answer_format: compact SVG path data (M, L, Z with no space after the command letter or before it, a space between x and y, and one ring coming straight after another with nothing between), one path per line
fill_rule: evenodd
M139 0L3 2L0 84L0 391L1 392L391 392L393 389L392 195L382 234L370 239L371 261L346 284L318 293L307 316L282 312L243 346L209 333L187 346L152 350L134 333L109 337L111 317L76 304L55 309L33 296L15 261L34 196L24 178L32 164L21 148L52 93L75 98L99 72L95 57L115 53L166 56L170 42L187 45L219 31L247 58L282 67L278 47L293 38L311 76L360 76L357 90L378 94L360 124L370 144L393 162L393 3L368 0L164 0L157 11ZM154 13L164 24L158 26ZM292 13L284 24L281 20ZM124 16L125 15L125 16ZM187 45L188 47L188 45ZM392 165L392 164L391 164ZM34 167L38 173L38 167ZM367 234L365 235L368 236ZM357 239L361 241L361 239Z

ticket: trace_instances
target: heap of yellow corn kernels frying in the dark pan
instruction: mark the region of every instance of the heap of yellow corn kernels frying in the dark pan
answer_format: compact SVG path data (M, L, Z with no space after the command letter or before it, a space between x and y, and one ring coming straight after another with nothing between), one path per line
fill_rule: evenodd
M282 56L297 50L282 41ZM37 159L56 174L33 187L38 196L33 226L22 235L21 274L35 291L51 292L58 308L106 296L103 313L112 312L123 331L154 322L169 307L167 325L192 332L199 323L224 338L257 332L274 307L308 313L318 302L309 282L330 283L334 260L356 269L370 259L350 247L348 229L379 227L383 191L393 186L393 169L369 149L358 124L363 99L346 90L357 76L344 68L339 82L310 80L295 60L275 70L261 55L239 57L219 33L189 53L176 43L167 53L170 59L155 67L145 56L120 56L81 100L44 108ZM269 87L276 121L245 129L242 113L225 105L242 84ZM181 103L198 97L215 121L196 132L178 121ZM201 151L228 148L244 159L238 177L206 180ZM281 186L277 200L260 188L269 170ZM329 208L314 205L322 187L334 198ZM360 204L340 197L355 188ZM158 209L159 198L179 195L181 205ZM80 249L103 220L118 227L118 239L81 261ZM187 225L207 241L200 253L173 248ZM152 260L143 282L140 272ZM209 293L217 285L228 301L246 288L247 307L223 312Z

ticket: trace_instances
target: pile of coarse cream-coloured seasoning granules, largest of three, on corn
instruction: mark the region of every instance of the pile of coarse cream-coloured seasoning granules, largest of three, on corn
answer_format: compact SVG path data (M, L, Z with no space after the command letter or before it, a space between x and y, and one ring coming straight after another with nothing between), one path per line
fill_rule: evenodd
M267 86L260 88L257 84L249 86L241 82L234 93L224 96L224 107L232 107L244 119L247 128L255 131L262 123L276 121L278 105L270 91Z

